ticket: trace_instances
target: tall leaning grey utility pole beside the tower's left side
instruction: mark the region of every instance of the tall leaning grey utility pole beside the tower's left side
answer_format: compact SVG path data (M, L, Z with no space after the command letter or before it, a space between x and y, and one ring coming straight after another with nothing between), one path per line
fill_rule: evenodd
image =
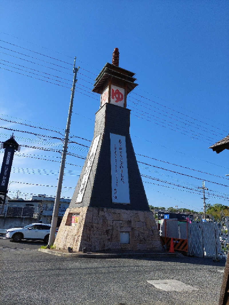
M75 59L76 59L76 57L75 57ZM50 249L50 245L52 245L55 240L56 224L57 224L59 204L60 204L60 194L61 194L61 188L62 188L62 182L63 182L63 176L64 176L65 159L66 159L66 154L67 154L68 136L69 136L69 130L70 130L70 124L71 124L71 113L72 113L73 99L74 99L74 93L75 93L75 84L77 82L76 75L79 70L79 67L78 68L75 67L75 59L74 59L74 67L73 67L74 79L73 79L73 84L72 84L72 88L71 88L71 99L70 99L70 105L69 105L69 110L68 110L67 126L66 126L65 136L64 136L64 146L62 149L60 172L59 172L59 178L58 178L58 183L57 183L57 188L56 188L56 198L55 198L55 203L54 203L54 207L53 207L53 218L52 218L51 229L50 229L50 234L49 234L49 242L48 242L49 249Z

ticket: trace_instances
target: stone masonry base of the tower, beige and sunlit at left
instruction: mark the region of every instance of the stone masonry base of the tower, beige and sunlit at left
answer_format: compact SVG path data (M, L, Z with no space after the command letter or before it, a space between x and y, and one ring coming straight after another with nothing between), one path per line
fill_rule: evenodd
M71 217L79 214L78 223ZM120 232L129 232L129 243L120 243ZM54 242L56 249L73 251L130 250L164 252L151 211L79 207L67 209Z

